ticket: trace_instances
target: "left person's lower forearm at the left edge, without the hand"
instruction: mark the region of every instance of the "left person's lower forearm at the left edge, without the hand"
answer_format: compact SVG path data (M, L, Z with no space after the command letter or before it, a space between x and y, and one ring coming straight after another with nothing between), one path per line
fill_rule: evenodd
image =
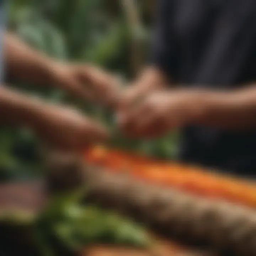
M38 124L43 105L4 86L0 87L0 125L34 128Z

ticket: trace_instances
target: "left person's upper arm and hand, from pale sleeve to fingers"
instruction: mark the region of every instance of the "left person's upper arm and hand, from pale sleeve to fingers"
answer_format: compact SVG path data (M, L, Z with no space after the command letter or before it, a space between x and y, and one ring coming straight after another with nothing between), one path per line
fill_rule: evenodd
M7 33L4 41L7 73L17 79L54 86L82 99L112 106L119 93L115 79L91 65L57 62Z

